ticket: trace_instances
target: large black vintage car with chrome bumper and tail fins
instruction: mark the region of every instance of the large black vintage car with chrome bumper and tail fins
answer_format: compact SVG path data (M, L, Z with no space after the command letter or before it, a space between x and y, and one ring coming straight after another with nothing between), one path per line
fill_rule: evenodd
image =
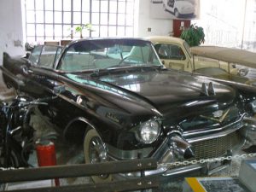
M1 68L8 86L33 97L62 88L42 111L68 141L84 146L86 163L153 157L160 166L146 175L202 168L210 173L224 161L212 166L197 160L256 143L251 94L166 69L143 39L83 39L63 49L38 46L27 59L4 53ZM166 166L179 160L194 163Z

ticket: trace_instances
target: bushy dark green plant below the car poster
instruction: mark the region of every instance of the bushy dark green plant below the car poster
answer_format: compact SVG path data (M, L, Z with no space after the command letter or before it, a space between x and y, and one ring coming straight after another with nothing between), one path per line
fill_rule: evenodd
M189 28L183 30L180 38L183 38L190 47L198 46L205 42L204 29L201 26L192 24Z

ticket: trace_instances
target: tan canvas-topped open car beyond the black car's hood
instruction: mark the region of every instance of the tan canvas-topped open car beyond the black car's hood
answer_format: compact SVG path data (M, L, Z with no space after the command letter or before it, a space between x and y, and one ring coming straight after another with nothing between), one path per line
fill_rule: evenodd
M197 46L191 47L190 50L195 73L255 85L255 53L218 46Z

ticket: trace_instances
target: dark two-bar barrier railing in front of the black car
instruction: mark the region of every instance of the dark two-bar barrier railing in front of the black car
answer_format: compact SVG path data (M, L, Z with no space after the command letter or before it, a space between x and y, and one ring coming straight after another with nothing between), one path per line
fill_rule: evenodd
M8 169L0 171L0 183L13 183L24 181L37 181L53 178L90 177L102 174L116 174L125 172L141 172L142 177L129 178L109 183L88 183L58 187L45 187L38 189L19 189L11 191L24 192L107 192L131 191L152 189L159 186L158 177L144 177L143 172L157 168L154 159L122 160L98 164L79 164L63 166L44 166L38 168ZM9 190L10 191L10 190Z

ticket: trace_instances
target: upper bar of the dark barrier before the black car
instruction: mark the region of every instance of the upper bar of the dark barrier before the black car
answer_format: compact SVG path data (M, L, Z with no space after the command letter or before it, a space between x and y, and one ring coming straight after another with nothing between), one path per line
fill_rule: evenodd
M101 169L99 169L101 167ZM6 170L0 172L0 182L36 181L49 178L87 177L93 175L113 174L123 172L139 172L157 168L156 160L119 160L107 163L44 166L39 168Z

